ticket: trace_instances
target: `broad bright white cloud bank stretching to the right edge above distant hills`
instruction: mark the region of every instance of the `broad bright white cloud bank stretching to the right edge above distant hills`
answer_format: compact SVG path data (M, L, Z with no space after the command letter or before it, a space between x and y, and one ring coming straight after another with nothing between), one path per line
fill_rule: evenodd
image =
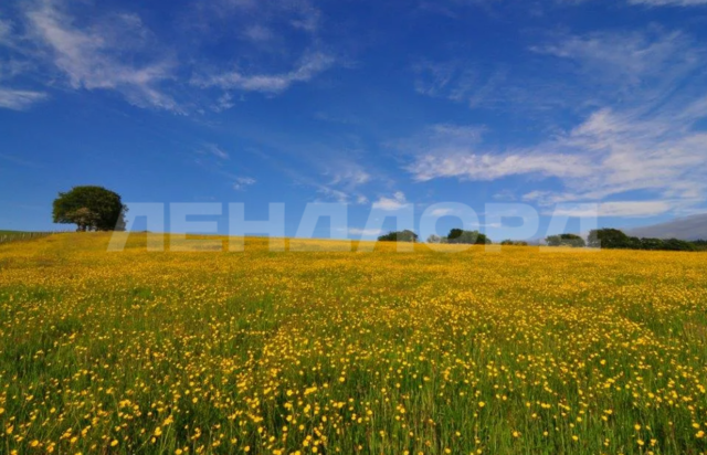
M418 181L488 181L520 174L560 179L563 191L536 190L524 197L541 203L601 200L636 190L699 202L707 190L707 134L692 126L707 114L703 104L697 100L682 112L646 119L601 109L566 135L511 151L444 138L420 140L408 170Z

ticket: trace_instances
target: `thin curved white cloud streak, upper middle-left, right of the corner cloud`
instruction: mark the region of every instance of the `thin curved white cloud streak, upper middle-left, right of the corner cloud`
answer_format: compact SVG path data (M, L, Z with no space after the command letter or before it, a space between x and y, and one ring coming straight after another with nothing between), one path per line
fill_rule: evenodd
M286 73L245 74L241 71L230 71L199 75L193 77L191 83L200 87L279 93L294 83L310 81L317 74L330 68L334 63L335 59L331 55L313 52L304 55L297 66Z

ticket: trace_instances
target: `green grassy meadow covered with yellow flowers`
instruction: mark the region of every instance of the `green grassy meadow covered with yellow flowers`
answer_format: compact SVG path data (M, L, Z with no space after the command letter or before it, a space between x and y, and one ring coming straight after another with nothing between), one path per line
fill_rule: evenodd
M707 452L707 254L130 239L0 245L0 453Z

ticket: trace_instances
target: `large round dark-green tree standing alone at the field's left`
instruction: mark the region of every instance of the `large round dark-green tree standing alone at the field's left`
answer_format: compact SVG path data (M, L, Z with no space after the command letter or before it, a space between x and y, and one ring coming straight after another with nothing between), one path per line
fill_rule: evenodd
M54 200L54 223L76 224L77 232L125 231L127 207L103 187L74 187Z

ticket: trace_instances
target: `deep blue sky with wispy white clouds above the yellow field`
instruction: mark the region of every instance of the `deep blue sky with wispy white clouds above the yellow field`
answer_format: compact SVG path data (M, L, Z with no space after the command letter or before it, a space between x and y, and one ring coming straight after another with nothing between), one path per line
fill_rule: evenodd
M527 203L538 235L558 203L701 213L706 52L707 0L2 2L0 229L62 228L77 184L285 202L288 235L317 201L350 204L352 237L373 204L483 228Z

